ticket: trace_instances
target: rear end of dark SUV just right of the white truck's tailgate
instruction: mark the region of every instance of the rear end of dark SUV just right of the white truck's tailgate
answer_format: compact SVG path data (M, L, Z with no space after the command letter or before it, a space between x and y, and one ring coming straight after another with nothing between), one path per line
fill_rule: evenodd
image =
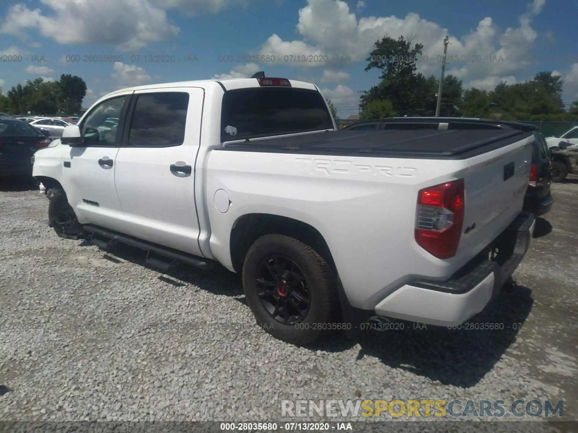
M544 215L550 212L553 199L550 194L552 182L552 163L550 150L544 136L535 133L532 144L532 169L528 180L528 189L524 197L524 210L532 214Z

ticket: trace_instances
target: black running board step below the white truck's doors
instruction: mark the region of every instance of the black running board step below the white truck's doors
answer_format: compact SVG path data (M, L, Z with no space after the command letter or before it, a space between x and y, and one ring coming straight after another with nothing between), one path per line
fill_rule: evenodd
M187 263L203 270L214 267L214 263L211 260L202 259L184 252L177 252L173 249L161 247L161 245L138 240L111 230L102 229L101 227L86 225L84 226L84 231L89 234L86 238L91 244L107 252L110 252L117 244L131 245L131 247L143 249L147 252L146 263L161 270L168 270L175 262ZM151 253L168 260L165 262L164 260L154 259L150 257Z

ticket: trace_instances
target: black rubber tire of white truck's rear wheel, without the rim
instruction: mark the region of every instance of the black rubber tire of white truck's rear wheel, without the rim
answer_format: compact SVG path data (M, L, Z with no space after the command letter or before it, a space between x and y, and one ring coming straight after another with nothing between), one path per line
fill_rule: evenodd
M269 255L288 257L301 268L305 276L310 307L305 319L297 324L280 323L261 302L257 278L262 260ZM339 307L336 275L323 257L297 239L280 234L266 234L258 238L245 256L243 289L257 324L281 341L298 346L307 345L336 329L334 319Z

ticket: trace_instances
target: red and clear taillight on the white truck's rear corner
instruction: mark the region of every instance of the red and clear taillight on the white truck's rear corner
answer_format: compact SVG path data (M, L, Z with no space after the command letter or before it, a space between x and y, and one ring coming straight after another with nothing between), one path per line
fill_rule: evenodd
M453 257L464 224L464 180L421 189L417 196L416 242L439 259Z

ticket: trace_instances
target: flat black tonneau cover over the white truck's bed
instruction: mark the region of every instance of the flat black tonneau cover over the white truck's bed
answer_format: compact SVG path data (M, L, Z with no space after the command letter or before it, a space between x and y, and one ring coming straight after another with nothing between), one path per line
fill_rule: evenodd
M225 143L223 150L464 159L533 134L536 126L464 118L388 118L385 130L338 130Z

